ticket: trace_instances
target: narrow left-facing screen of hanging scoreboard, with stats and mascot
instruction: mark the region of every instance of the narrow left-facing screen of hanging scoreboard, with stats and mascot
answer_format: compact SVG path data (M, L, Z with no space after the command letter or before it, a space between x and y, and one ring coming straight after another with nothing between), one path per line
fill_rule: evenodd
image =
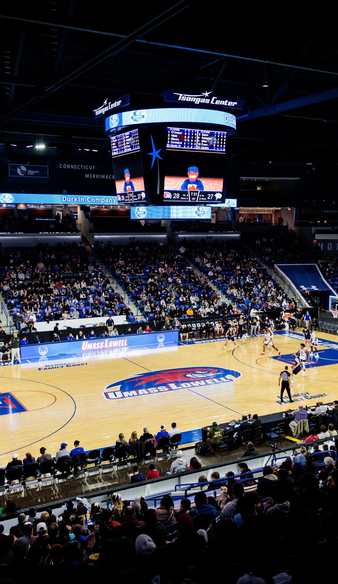
M148 201L145 194L138 129L110 138L118 204Z

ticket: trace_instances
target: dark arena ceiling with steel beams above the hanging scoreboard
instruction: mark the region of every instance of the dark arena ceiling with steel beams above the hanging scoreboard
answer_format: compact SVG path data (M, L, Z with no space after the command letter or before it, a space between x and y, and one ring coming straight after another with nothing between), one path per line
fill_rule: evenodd
M2 148L42 137L59 154L87 144L108 156L103 119L92 116L105 98L130 92L144 107L163 104L163 89L214 91L246 100L232 164L310 161L334 170L338 48L330 6L317 0L2 4Z

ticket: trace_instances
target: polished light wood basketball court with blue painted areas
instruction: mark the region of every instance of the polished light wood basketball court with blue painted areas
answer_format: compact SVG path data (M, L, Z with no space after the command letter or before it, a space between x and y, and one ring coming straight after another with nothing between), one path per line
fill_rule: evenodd
M291 388L297 402L338 399L338 338L316 333L319 358L306 365ZM0 369L0 465L13 452L39 456L40 446L55 456L61 442L81 440L85 450L115 443L120 432L128 440L144 426L156 433L176 422L182 444L198 440L201 427L250 413L265 415L288 408L280 404L278 376L294 363L300 333L276 333L281 350L262 352L263 338L172 343L155 349L113 349ZM284 400L287 397L284 394Z

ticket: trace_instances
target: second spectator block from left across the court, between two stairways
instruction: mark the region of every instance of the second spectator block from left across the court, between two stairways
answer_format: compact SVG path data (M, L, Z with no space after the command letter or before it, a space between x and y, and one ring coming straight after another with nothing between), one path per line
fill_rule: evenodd
M149 320L224 314L227 305L207 277L194 273L184 246L135 244L98 248L131 300Z

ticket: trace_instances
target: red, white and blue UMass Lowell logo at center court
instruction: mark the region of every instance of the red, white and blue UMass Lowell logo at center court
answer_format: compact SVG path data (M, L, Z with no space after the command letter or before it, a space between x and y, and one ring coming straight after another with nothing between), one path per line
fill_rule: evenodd
M208 385L224 385L241 376L239 371L222 367L182 367L151 371L107 385L106 399L133 398L164 391L193 390Z

